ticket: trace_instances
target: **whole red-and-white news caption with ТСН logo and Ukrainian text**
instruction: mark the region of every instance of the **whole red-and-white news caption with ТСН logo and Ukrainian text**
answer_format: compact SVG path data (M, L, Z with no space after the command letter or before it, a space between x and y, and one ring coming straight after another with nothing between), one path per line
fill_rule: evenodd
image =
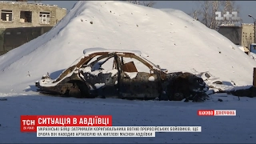
M112 126L111 115L22 115L21 131L37 137L155 137L156 132L202 132L202 127Z

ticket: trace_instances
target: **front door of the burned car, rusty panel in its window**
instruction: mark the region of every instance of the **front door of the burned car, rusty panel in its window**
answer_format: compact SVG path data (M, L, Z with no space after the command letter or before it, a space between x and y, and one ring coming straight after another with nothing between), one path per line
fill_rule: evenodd
M122 62L120 94L123 98L154 99L159 96L158 74L138 71L134 62Z

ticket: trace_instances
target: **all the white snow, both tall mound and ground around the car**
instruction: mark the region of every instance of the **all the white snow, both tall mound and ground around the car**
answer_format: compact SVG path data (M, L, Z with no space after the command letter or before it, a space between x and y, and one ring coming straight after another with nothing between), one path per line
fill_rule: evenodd
M40 95L34 82L57 78L86 48L141 50L170 71L206 72L230 89L251 86L256 62L230 40L180 10L128 2L78 2L52 30L0 56L0 142L170 143L256 142L255 98L212 94L194 102L77 99ZM222 98L223 102L218 102ZM200 117L197 110L237 110L234 117ZM20 115L111 114L114 126L202 126L201 133L156 138L36 138L20 132Z

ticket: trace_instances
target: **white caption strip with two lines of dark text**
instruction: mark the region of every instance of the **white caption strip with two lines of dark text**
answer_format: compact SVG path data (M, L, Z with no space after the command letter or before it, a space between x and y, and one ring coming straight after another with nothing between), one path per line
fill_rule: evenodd
M202 132L201 126L37 126L37 137L155 137L157 132Z

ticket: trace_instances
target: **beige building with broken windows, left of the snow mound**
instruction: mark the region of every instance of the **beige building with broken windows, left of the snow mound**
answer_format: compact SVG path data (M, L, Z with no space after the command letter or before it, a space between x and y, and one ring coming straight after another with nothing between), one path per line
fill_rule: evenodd
M0 28L54 26L66 9L56 5L27 2L0 2Z

